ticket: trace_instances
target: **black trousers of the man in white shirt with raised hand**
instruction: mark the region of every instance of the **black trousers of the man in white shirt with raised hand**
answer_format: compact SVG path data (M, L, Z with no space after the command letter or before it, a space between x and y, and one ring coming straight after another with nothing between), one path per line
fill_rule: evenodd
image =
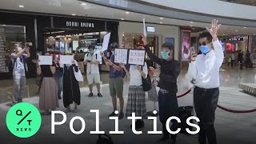
M216 144L216 132L214 129L215 110L218 105L219 89L194 88L194 109L197 117L200 119L198 141L200 144L206 144L206 138L209 144Z

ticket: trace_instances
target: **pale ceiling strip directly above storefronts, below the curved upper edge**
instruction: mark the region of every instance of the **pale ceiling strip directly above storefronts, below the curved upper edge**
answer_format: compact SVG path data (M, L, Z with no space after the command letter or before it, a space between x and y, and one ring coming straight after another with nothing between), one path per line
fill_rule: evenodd
M65 14L72 16L94 17L94 18L110 18L118 21L124 18L125 21L142 22L142 18L146 18L146 22L158 23L175 26L194 26L205 27L210 24L202 22L188 22L172 18L159 18L147 14L138 14L130 12L126 14L124 10L117 10L106 6L98 6L91 3L85 3L78 0L1 0L0 9L2 10L21 10L29 12L47 13L47 14ZM20 7L24 6L24 7ZM74 17L76 17L74 16ZM219 34L238 35L256 34L256 28L239 27L239 26L222 26Z

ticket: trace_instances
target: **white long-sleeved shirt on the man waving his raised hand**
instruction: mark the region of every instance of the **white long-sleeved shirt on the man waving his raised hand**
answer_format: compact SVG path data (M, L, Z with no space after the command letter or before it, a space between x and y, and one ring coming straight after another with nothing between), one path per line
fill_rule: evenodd
M195 86L200 88L211 89L219 86L219 68L222 66L224 54L218 40L213 45L214 50L210 50L208 54L199 54L194 62L190 62L186 78L194 78Z

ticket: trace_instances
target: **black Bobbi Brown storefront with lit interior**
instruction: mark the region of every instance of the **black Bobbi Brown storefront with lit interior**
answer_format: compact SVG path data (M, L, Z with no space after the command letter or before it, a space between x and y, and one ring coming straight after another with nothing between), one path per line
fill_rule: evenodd
M30 42L31 57L26 59L26 77L35 78L36 65L32 59L36 58L37 51L56 49L62 53L73 50L86 52L90 44L100 49L102 38L108 32L111 32L110 42L118 42L118 22L0 13L0 79L12 78L8 67L14 43L23 47Z

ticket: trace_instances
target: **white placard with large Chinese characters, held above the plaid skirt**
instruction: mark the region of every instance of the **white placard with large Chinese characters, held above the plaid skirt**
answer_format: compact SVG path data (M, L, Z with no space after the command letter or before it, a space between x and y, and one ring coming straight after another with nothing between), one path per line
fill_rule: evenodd
M145 50L129 50L129 64L144 66L144 62Z

